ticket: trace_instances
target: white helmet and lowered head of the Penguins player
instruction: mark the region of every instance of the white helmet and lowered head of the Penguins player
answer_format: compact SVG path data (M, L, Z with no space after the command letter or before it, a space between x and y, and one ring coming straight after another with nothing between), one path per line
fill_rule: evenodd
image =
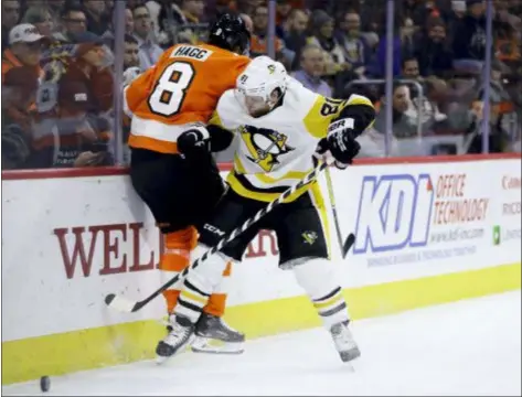
M251 115L270 111L288 87L285 66L268 56L258 56L237 77L236 93ZM260 112L260 114L259 114Z

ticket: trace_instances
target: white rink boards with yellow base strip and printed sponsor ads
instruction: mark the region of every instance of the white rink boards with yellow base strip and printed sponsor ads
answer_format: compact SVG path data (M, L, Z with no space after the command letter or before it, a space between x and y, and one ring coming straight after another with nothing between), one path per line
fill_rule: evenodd
M520 289L520 154L331 172L342 234L356 235L341 260L330 216L353 319ZM163 281L159 233L126 171L2 176L2 383L151 357L162 299L135 314L104 304L107 293L141 299ZM276 238L264 232L233 269L226 319L248 337L320 325L277 265Z

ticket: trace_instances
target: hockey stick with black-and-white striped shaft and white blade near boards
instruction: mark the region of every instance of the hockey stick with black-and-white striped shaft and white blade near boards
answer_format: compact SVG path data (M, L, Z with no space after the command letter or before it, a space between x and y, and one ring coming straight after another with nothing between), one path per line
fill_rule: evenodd
M245 221L245 223L232 230L232 233L222 238L217 245L209 249L206 253L204 253L200 258L198 258L192 266L188 266L181 273L178 273L175 277L167 281L163 286L161 286L158 290L152 292L149 297L147 297L143 300L140 301L131 301L128 300L125 297L117 296L116 293L109 293L107 297L105 297L105 303L113 309L116 309L121 312L127 312L127 313L134 313L140 310L142 307L145 307L147 303L149 303L151 300L153 300L156 297L161 294L164 290L167 290L170 286L173 286L174 283L178 282L181 278L185 277L187 273L190 271L190 269L193 269L198 267L202 261L205 261L210 256L214 255L217 253L220 249L222 249L225 245L227 245L230 242L232 242L234 238L236 238L239 234L245 232L248 227L251 227L254 223L259 221L263 216L268 214L274 207L277 205L281 204L288 196L294 194L297 190L301 189L302 186L309 184L310 182L313 182L317 179L317 175L319 172L324 170L328 167L326 162L321 162L318 167L316 167L308 175L306 175L300 182L296 183L294 186L289 187L279 197L270 202L265 208L260 210L255 214L253 217L248 218Z

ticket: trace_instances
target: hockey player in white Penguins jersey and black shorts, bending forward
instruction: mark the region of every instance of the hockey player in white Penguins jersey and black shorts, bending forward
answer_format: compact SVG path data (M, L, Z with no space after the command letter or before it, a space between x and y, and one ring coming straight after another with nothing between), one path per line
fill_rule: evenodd
M329 99L289 77L267 56L255 58L239 75L237 88L221 97L211 124L239 136L230 189L201 230L194 257L255 215L317 164L317 154L331 155L345 168L359 153L355 138L374 120L372 103L358 95ZM194 135L194 146L204 138ZM319 143L319 150L318 150ZM291 270L331 333L343 362L359 357L349 330L342 289L330 261L327 208L317 182L305 186L237 236L219 254L189 271L171 316L172 332L159 343L158 360L189 344L202 308L220 283L228 260L241 261L259 229L273 229L279 267Z

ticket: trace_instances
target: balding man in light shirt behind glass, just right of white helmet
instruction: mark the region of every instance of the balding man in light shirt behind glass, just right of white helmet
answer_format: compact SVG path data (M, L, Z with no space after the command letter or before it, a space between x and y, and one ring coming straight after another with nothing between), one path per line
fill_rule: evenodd
M320 47L309 44L302 49L301 68L294 77L313 93L332 96L332 89L321 76L324 74L324 54Z

